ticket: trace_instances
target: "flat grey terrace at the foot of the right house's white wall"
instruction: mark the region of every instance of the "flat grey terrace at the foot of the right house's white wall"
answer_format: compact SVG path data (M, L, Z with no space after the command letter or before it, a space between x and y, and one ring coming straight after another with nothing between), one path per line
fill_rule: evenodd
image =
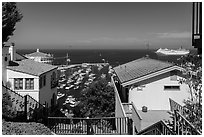
M141 121L141 130L147 128L148 126L159 122L160 120L172 120L168 110L147 110L147 112L142 112L138 110L140 116L142 117Z

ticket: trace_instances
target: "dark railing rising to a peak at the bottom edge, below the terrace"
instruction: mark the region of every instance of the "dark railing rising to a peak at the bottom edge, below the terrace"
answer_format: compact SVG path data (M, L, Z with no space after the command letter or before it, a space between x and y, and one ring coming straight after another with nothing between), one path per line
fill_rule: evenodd
M143 129L137 135L175 135L162 120Z

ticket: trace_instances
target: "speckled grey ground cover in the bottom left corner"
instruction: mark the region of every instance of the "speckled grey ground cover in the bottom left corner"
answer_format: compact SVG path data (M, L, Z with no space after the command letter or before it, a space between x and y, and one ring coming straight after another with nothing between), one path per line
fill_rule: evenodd
M50 129L35 122L6 122L2 120L3 135L53 135Z

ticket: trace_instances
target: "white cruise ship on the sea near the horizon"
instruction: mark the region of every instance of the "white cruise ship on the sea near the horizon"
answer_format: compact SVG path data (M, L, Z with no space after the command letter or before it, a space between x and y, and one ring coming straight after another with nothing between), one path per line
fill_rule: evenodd
M157 55L178 55L178 56L182 56L182 55L188 55L190 53L189 50L183 49L183 48L179 48L177 50L173 50L173 49L158 49L155 52Z

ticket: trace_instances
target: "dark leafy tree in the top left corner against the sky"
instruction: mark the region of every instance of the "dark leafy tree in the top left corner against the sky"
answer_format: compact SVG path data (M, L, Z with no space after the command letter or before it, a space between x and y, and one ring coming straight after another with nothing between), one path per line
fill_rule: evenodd
M9 40L13 35L16 23L22 19L22 14L18 10L15 2L2 3L2 43Z

